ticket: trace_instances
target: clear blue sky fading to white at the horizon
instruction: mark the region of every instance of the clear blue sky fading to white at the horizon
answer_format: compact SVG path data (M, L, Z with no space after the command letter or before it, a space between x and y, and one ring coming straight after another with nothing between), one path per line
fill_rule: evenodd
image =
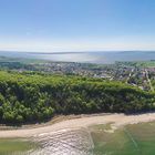
M155 0L0 0L3 50L155 50Z

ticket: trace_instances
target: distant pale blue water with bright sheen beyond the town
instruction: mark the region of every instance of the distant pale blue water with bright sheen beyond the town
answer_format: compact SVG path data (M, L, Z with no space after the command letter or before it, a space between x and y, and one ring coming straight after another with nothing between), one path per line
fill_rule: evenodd
M155 60L155 51L125 51L125 52L55 52L55 53L30 53L30 52L4 52L0 55L11 58L43 59L63 62L89 62L110 64L115 61L146 61Z

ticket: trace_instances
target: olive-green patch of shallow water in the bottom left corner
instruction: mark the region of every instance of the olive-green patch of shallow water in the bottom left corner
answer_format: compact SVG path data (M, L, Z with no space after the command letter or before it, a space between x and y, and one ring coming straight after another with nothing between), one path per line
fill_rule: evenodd
M0 155L11 155L18 152L27 152L37 147L27 140L2 138L0 140Z

